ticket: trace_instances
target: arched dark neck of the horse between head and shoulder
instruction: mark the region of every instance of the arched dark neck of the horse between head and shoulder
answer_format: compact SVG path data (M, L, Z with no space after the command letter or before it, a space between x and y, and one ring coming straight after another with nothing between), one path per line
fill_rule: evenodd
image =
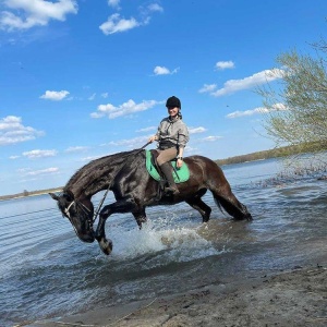
M84 166L65 185L76 198L92 197L94 194L110 187L117 172L125 162L126 156L116 157L108 162L104 158Z

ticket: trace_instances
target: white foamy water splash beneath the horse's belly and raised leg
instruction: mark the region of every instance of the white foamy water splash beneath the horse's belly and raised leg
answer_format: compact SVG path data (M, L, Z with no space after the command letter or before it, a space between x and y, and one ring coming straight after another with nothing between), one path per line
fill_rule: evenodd
M173 214L147 221L142 230L136 227L126 230L121 225L111 227L114 250L109 259L131 261L146 256L149 268L219 254L213 243L201 235L198 223L179 226L178 221L178 215Z

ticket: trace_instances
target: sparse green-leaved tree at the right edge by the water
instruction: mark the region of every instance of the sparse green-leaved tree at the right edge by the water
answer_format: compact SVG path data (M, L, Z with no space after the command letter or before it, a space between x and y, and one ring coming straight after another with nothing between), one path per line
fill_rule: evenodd
M277 146L296 145L302 152L327 148L326 43L313 46L316 57L295 50L280 55L277 89L257 88L266 110L265 129ZM280 74L280 70L272 74Z

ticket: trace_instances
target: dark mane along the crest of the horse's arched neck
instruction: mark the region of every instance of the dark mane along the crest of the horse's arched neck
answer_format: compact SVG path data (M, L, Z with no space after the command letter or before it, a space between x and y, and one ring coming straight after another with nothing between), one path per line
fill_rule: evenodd
M140 149L134 149L130 152L121 152L108 156L104 156L97 159L89 161L88 164L81 167L70 178L63 191L66 191L71 187L71 185L75 184L80 179L88 177L88 179L96 178L97 171L104 171L105 168L116 168L121 165L129 156L132 156L133 153L140 152Z

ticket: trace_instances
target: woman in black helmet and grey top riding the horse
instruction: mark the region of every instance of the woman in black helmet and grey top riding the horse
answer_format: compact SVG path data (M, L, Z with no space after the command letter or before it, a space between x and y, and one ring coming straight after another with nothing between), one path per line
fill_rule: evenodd
M177 168L183 165L183 152L189 142L189 131L182 121L181 101L175 96L169 97L166 101L169 117L164 118L158 126L157 133L149 138L149 142L159 142L159 155L157 162L164 172L168 187L165 192L178 194L179 190L172 177L170 160L177 159Z

